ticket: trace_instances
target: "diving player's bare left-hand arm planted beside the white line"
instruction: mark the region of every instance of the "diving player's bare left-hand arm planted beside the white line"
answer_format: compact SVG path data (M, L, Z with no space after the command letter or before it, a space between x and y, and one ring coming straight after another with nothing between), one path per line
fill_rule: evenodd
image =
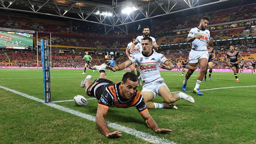
M104 119L104 116L108 113L108 109L101 107L98 105L97 113L96 113L96 124L100 132L110 138L110 137L121 137L122 134L119 131L115 131L111 133L111 131L108 129L108 126L106 124L106 121Z

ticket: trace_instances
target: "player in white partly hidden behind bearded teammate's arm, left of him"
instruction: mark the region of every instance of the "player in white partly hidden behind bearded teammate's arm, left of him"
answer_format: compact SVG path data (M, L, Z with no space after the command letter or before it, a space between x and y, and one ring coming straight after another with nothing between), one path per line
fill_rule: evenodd
M134 42L136 39L136 36L134 36L134 38L132 39L132 42ZM128 57L128 59L130 59L130 57L134 56L135 54L139 54L139 43L136 44L136 46L134 47L134 49L132 50L132 53L130 53L130 49L132 47L132 42L128 43L127 47L126 47L126 51L125 51L125 54L126 56ZM139 72L139 68L138 68L138 65L133 63L131 66L130 66L130 69L131 69L131 72L135 73L134 70L136 68L136 71L137 71L137 77L139 77L141 74ZM139 79L139 85L141 86L141 81Z

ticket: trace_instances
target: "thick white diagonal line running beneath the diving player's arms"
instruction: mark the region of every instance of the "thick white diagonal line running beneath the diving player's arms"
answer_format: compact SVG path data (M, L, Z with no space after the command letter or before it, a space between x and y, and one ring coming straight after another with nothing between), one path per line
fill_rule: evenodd
M31 100L35 100L37 102L40 102L40 103L44 103L44 100L41 100L39 98L35 98L33 96L30 96L28 94L24 94L22 92L19 92L19 91L16 91L16 90L13 90L13 89L9 89L7 87L2 87L0 85L0 88L4 89L4 90L8 90L10 92L13 92L15 94L19 94L20 96L24 96L26 98L29 98ZM89 114L85 114L85 113L81 113L79 111L75 111L75 110L72 110L72 109L69 109L67 107L63 107L63 106L60 106L60 105L57 105L55 103L44 103L50 107L53 107L55 109L58 109L60 111L64 111L64 112L67 112L67 113L70 113L70 114L74 114L76 116L80 116L82 118L85 118L87 120L90 120L90 121L93 121L95 122L95 116L91 116ZM106 121L107 124L108 124L108 127L112 127L113 129L117 129L119 131L123 131L124 133L128 133L130 135L133 135L137 138L141 138L145 141L148 141L150 143L155 143L155 144L176 144L175 142L171 142L165 138L160 138L158 136L155 136L155 135L150 135L149 133L145 133L145 132L142 132L142 131L137 131L135 129L132 129L132 128L129 128L129 127L125 127L125 126L122 126L122 125L119 125L119 124L115 124L113 122L109 122L109 121Z

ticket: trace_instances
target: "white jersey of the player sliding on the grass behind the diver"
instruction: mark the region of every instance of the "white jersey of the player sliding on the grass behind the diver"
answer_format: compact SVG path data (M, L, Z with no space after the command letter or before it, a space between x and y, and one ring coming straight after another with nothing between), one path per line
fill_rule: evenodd
M157 52L152 52L152 54L147 57L143 55L142 52L130 57L129 60L132 61L132 63L137 63L143 83L149 83L161 78L160 63L164 64L168 61L163 54Z

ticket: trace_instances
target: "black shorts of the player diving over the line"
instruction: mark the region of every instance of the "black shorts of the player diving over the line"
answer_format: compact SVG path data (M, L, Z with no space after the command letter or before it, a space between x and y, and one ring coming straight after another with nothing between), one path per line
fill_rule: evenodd
M93 83L86 89L86 94L91 97L95 97L97 100L100 99L102 92L105 89L105 86L109 83L113 83L108 79L96 79Z

